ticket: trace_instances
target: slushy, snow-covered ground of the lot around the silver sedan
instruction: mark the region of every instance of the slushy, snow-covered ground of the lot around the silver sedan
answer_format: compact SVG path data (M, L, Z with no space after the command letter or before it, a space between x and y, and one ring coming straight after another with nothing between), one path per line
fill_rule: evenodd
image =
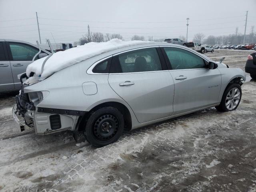
M244 69L248 53L206 55ZM18 132L15 94L0 95L0 191L255 192L256 82L244 83L242 92L235 111L195 112L127 132L103 148L76 144L70 132Z

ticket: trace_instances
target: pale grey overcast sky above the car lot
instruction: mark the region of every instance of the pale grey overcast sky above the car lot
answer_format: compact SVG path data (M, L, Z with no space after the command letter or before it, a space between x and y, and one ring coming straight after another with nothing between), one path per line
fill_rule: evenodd
M87 32L120 33L124 40L134 34L153 38L244 33L256 26L256 0L0 0L0 39L35 43L74 42ZM254 32L256 27L254 28Z

